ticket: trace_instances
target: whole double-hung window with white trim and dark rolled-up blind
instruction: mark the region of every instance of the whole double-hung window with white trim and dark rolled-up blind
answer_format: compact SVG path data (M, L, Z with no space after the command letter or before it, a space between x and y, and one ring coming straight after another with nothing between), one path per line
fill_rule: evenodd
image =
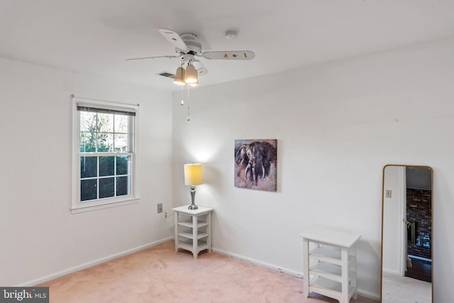
M137 107L73 98L72 213L133 203Z

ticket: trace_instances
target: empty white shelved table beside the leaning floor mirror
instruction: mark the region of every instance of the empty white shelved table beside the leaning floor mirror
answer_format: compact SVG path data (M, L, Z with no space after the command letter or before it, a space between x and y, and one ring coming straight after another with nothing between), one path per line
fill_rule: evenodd
M303 238L303 294L317 292L348 303L357 298L356 243L361 237L326 228L300 233Z

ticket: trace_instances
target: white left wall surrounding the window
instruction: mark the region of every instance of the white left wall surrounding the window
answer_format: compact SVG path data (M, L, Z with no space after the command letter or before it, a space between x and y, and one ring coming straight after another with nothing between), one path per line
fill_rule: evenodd
M137 204L70 213L71 98L140 104ZM172 96L0 59L0 285L30 285L172 235Z

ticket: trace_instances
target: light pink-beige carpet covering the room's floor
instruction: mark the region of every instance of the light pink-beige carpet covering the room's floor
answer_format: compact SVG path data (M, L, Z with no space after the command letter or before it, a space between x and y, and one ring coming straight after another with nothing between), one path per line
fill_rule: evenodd
M51 303L145 302L338 302L303 297L298 277L218 253L198 259L173 241L45 282ZM358 297L351 303L371 303Z

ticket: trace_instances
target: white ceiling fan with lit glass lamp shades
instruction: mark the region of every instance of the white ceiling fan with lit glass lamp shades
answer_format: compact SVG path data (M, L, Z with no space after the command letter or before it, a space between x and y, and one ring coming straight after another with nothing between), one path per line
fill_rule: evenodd
M201 43L197 42L197 35L194 33L182 33L179 35L177 32L168 28L160 28L159 32L164 38L167 39L172 45L175 46L175 53L178 55L164 55L154 57L137 57L129 58L126 60L143 60L143 59L156 59L156 58L177 58L182 57L182 62L177 68L175 73L175 84L199 84L198 75L206 75L208 70L196 57L204 57L208 60L252 60L255 54L250 50L237 50L237 51L212 51L203 52L201 50ZM236 38L235 32L227 32L226 38Z

